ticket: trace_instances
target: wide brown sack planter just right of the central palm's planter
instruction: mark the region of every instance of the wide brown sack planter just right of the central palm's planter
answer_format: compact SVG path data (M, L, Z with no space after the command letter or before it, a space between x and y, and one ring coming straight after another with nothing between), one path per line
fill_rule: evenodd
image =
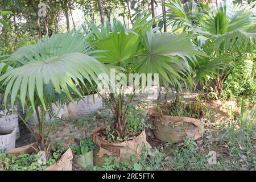
M168 105L162 106L163 111ZM151 109L150 114L154 118L154 135L164 142L181 142L189 137L192 140L203 137L204 123L199 119L189 117L175 117L163 113L156 113L157 108Z

